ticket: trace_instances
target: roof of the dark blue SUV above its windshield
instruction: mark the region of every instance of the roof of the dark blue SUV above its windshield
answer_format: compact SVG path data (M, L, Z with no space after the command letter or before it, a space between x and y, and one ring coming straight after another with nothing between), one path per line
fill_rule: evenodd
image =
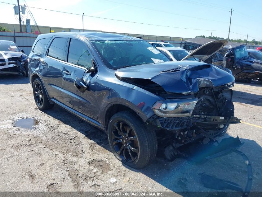
M54 35L77 35L87 38L88 40L99 40L99 41L112 41L112 40L142 40L128 35L102 33L102 32L60 32L41 34L39 38L50 38Z

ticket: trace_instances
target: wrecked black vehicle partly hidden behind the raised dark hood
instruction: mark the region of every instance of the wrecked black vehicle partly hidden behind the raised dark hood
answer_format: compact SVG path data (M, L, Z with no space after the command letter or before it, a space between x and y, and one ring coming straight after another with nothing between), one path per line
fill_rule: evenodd
M192 38L185 41L183 48L197 49L212 40ZM230 69L236 80L251 81L256 79L262 81L262 61L250 58L246 46L242 43L228 42L213 55L211 63Z

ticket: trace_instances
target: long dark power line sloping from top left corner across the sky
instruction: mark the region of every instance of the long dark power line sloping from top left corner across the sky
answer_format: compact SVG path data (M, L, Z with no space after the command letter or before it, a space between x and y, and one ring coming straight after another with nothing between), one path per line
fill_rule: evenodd
M0 3L6 3L6 2L0 2ZM13 4L13 3L6 3L6 4L16 5L16 4ZM82 14L76 14L76 13L70 13L70 12L62 12L62 11L50 10L50 9L39 8L39 7L30 7L30 8L35 8L35 9L40 9L40 10L47 10L47 11L52 11L52 12L60 12L60 13L64 13L64 14L73 14L73 15L82 16ZM222 31L224 32L224 31L225 31L225 30L205 30L205 29L193 29L193 28L185 28L185 27L156 25L156 24L150 24L150 23L140 23L140 22L134 22L134 21L124 21L124 20L118 20L118 19L112 19L112 18L104 18L104 17L99 17L99 16L89 16L89 15L84 15L84 16L92 17L92 18L107 19L107 20L112 20L112 21L129 22L129 23L135 23L135 24L141 24L141 25L159 26L159 27L170 27L170 28L177 28L177 29L201 30L201 31L220 31L220 32L222 32Z

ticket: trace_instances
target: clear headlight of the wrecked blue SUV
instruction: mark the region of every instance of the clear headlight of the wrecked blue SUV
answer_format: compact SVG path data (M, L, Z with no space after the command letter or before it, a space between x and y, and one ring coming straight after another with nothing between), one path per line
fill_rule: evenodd
M198 99L172 99L156 102L152 109L160 117L191 116Z

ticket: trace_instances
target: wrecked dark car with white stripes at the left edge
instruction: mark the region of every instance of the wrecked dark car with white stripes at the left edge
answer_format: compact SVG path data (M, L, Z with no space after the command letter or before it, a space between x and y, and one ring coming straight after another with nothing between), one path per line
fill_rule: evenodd
M13 41L0 40L0 75L20 74L28 76L27 55Z

